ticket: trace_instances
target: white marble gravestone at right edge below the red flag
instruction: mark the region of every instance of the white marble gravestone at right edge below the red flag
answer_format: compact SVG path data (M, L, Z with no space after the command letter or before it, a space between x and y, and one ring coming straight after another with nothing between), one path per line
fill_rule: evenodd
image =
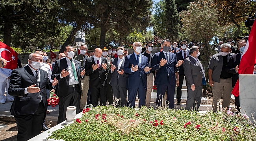
M245 112L250 117L250 120L252 120L252 115L256 118L256 75L240 74L239 92L241 114Z

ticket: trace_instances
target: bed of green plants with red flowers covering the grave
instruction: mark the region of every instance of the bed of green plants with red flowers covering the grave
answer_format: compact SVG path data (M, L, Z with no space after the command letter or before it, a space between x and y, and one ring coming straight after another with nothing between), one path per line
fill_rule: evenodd
M154 110L154 108L142 107L135 110L129 107L98 106L84 112L77 120L81 123L74 119L74 123L55 130L48 139L65 141L241 141L253 140L256 137L255 125L240 114L232 116L231 111L199 113L168 108ZM184 125L189 121L191 124L186 125L185 128ZM197 125L200 125L198 129L195 128Z

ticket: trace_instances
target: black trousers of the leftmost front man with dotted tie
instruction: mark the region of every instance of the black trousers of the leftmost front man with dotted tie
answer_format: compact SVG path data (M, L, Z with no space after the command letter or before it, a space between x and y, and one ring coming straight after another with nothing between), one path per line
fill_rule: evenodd
M14 116L18 127L17 141L27 141L40 134L45 112L45 105L41 101L35 114Z

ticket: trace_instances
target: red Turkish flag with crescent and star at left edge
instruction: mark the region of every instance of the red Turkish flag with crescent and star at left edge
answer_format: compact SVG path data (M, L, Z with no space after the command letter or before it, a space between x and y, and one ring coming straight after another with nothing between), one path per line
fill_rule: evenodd
M18 54L13 51L11 47L5 43L0 42L0 57L4 58L7 61L7 64L4 68L6 69L17 69L18 65Z

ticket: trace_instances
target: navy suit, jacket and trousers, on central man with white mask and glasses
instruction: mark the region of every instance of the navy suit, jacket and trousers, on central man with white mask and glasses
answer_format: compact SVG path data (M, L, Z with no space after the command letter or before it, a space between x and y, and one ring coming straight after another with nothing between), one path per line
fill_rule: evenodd
M141 66L135 72L132 72L132 65L138 65L135 54L130 54L125 57L124 61L124 72L128 74L126 81L126 88L128 89L128 101L127 106L135 107L136 95L138 93L139 98L139 108L145 105L146 92L147 92L147 74L144 68L148 66L148 58L142 54L141 56ZM149 72L148 72L149 73Z

